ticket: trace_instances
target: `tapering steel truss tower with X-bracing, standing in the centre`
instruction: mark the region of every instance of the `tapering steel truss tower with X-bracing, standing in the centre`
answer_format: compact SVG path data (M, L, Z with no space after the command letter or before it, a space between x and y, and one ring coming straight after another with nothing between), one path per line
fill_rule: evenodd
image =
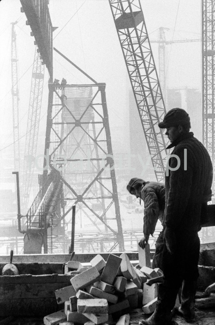
M111 237L101 251L124 251L105 84L49 84L49 92L45 148L50 168L61 172L64 183L62 218L70 224L75 204L77 225L97 232L100 241Z

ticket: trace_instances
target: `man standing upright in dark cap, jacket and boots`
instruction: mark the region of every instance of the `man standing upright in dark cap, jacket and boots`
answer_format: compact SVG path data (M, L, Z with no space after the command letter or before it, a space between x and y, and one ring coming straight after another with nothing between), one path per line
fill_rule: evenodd
M171 310L182 285L179 312L190 322L195 317L194 304L198 274L201 211L211 200L212 163L209 154L190 131L185 110L174 108L158 124L166 128L173 148L165 175L164 243L159 267L164 282L159 284L155 312L139 325L169 325Z

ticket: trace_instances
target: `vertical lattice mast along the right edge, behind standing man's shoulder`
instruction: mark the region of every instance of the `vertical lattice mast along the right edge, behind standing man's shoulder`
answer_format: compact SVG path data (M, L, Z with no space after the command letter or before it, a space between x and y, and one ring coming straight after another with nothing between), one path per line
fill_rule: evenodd
M202 0L202 141L215 170L215 0ZM215 192L213 179L212 194ZM213 198L214 200L214 198Z

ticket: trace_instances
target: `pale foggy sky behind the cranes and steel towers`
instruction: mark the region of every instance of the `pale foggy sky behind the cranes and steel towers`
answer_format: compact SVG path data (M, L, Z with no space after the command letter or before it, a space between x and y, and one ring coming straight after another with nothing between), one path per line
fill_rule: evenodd
M150 40L158 40L160 27L168 28L165 31L168 41L201 38L200 0L141 0L141 5ZM15 178L11 175L14 169L10 64L12 22L18 21L15 31L19 58L19 130L22 165L35 50L34 38L30 36L30 26L26 25L26 17L20 12L20 7L18 0L0 2L2 220L11 219L11 216L15 219L17 214ZM58 27L53 32L53 45L97 82L106 83L113 154L116 157L123 155L125 157L123 159L127 160L125 177L121 177L123 171L116 165L120 193L126 195L126 184L130 177L155 180L108 0L50 0L49 11L52 25ZM152 43L151 46L158 70L158 44ZM201 42L166 45L165 62L166 108L169 110L181 107L187 110L191 117L191 131L201 140ZM89 83L81 72L55 51L53 69L54 78L61 80L64 77L68 84ZM48 79L48 71L45 68L37 156L44 154ZM19 172L21 178L22 168ZM34 170L29 204L39 188L37 182L39 173L40 171ZM133 223L137 226L142 224L142 214L138 214L134 219Z

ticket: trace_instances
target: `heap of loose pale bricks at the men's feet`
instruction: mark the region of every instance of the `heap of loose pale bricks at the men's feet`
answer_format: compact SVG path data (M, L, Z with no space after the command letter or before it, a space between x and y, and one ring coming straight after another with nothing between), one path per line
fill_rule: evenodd
M55 292L57 304L64 303L64 309L45 316L45 325L111 324L112 316L119 317L117 312L125 314L143 305L145 313L153 312L157 284L144 283L159 277L159 269L134 267L126 253L120 257L109 254L107 262L98 254L90 264L84 267L80 262L68 262L65 272L71 275L71 286ZM129 324L128 317L121 317L119 324Z

